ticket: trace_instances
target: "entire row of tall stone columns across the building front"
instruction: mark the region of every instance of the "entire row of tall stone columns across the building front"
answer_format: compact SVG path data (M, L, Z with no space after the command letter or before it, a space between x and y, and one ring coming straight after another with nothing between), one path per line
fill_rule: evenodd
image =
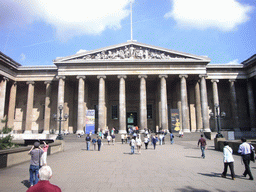
M167 111L167 88L166 78L167 75L159 75L160 78L160 100L161 100L161 128L168 129L168 111ZM182 128L184 132L189 132L189 110L188 110L188 97L187 97L187 86L186 78L188 75L180 75L181 79L181 114L182 114ZM204 131L209 132L209 111L208 111L208 99L207 99L207 88L206 88L206 75L200 75L199 82L195 84L195 103L196 103L196 120L198 127L202 127ZM77 133L83 131L85 126L85 76L77 76L78 79L78 113L77 113ZM106 76L98 76L99 79L99 114L98 114L98 125L99 128L106 127L106 99L105 99L105 79ZM126 95L125 95L125 75L119 75L119 126L120 133L126 132ZM147 96L146 96L146 75L139 75L140 79L140 127L147 127ZM65 76L57 76L59 79L58 85L58 106L64 106L64 92L65 92ZM0 82L0 118L4 118L5 108L5 97L6 97L6 86L8 78L3 78ZM213 88L213 100L214 104L219 105L218 97L218 86L219 80L211 80ZM232 117L234 122L234 128L239 128L238 121L238 107L235 90L235 80L229 80L230 82L230 93L232 101ZM33 121L33 100L34 100L34 82L27 82L28 85L28 96L27 96L27 110L26 110L26 124L25 133L31 133L32 121ZM51 96L51 82L45 82L46 85L46 96L45 96L45 118L44 118L44 133L49 133L50 129L50 96ZM249 100L249 114L251 120L251 127L255 128L255 104L253 97L253 88L251 81L247 83L247 93ZM14 125L14 114L15 114L15 101L16 101L17 83L13 82L10 89L9 99L9 110L8 110L8 126L13 127ZM57 110L58 111L58 110ZM216 114L215 114L216 115ZM57 125L58 126L58 125Z

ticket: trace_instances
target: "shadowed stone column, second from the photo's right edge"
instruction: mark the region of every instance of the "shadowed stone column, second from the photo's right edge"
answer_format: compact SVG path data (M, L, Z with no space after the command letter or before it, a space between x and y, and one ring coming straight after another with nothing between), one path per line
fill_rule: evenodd
M229 82L230 82L230 95L231 95L231 109L232 109L233 129L235 130L235 129L239 128L235 80L230 79Z

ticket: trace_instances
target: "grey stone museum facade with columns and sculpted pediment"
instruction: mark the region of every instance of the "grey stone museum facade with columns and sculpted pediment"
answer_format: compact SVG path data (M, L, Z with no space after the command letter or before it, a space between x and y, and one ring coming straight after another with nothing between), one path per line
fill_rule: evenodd
M136 41L57 58L52 66L21 66L1 53L0 118L14 133L80 133L131 126L152 131L255 131L256 55L241 64L210 64L205 56ZM88 118L88 111L94 116ZM213 113L215 118L209 115Z

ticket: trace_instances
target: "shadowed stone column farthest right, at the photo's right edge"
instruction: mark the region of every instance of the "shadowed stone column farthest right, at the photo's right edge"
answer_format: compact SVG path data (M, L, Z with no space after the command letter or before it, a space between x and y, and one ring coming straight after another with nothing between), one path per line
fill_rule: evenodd
M256 128L255 102L253 97L252 81L250 81L250 79L247 80L247 93L251 128Z

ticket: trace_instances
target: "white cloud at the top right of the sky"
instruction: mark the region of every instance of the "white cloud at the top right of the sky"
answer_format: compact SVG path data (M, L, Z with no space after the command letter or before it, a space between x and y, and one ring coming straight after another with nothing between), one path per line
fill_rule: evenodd
M253 9L237 0L173 0L165 18L173 18L179 27L232 31L250 19Z

